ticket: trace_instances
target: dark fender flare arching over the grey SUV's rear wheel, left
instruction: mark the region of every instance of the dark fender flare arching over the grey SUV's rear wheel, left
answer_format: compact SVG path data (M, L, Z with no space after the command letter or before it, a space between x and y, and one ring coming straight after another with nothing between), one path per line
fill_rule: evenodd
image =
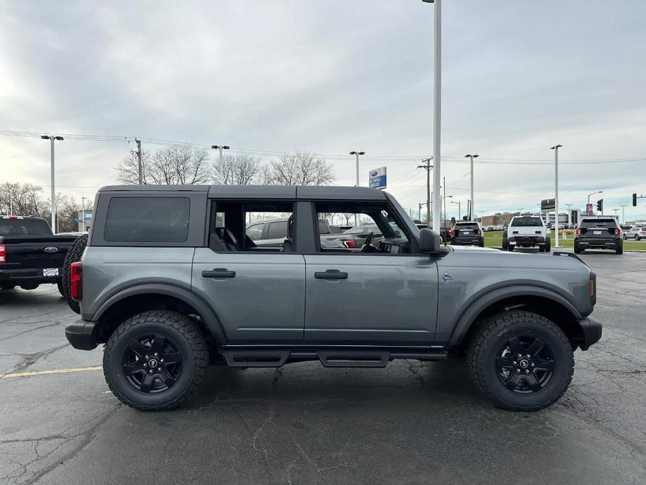
M84 314L83 319L86 321L98 321L101 319L101 316L105 314L110 307L112 307L112 305L115 305L115 303L122 301L124 298L129 298L130 296L145 294L172 296L173 298L183 301L187 305L191 305L198 311L216 342L220 345L226 344L226 333L224 333L220 319L217 317L213 308L192 291L175 286L174 284L144 283L120 289L117 293L110 295L105 301L103 301L93 315L90 316Z

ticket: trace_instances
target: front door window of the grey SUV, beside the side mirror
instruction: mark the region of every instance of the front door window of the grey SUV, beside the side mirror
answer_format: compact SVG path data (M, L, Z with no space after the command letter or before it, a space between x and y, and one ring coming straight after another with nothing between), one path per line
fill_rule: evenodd
M316 203L316 217L329 225L353 224L342 233L318 234L322 252L351 254L411 252L404 227L386 203ZM320 227L321 224L318 224Z

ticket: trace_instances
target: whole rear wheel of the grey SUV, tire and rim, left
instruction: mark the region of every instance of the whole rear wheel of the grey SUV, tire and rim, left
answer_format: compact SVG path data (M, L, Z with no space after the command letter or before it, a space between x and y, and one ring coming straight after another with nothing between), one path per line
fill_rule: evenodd
M103 375L122 403L144 411L171 410L198 388L207 346L182 314L152 311L124 321L103 353Z

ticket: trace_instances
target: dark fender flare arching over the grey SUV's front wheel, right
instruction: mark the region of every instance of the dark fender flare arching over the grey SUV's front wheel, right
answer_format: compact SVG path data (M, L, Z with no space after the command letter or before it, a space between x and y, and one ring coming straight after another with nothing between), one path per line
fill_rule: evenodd
M469 328L471 328L471 325L475 323L476 317L478 317L480 312L483 312L483 310L490 305L506 298L510 298L511 296L540 296L542 298L548 298L564 306L572 314L573 319L580 320L583 318L570 301L550 289L520 284L513 285L511 287L502 287L479 296L475 301L469 304L467 310L462 313L457 324L453 327L453 333L451 333L449 345L452 347L459 346L464 339L464 335L467 335Z

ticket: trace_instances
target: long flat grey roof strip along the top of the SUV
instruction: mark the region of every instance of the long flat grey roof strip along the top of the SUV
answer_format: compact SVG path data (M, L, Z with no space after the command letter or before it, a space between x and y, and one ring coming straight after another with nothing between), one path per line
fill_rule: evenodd
M379 189L310 185L107 185L98 191L208 192L210 198L302 198L323 201L386 199L386 194Z

